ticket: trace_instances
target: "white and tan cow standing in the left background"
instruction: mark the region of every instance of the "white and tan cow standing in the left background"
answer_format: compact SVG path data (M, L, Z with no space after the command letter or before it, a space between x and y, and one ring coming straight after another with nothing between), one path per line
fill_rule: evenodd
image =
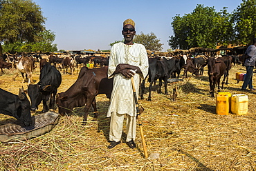
M30 57L21 57L19 61L16 63L17 70L21 72L23 82L25 83L28 80L28 85L33 83L32 71L33 71L33 61ZM18 73L19 74L19 73ZM15 76L15 78L18 76ZM24 79L24 74L26 74L26 80ZM13 80L15 80L15 78Z

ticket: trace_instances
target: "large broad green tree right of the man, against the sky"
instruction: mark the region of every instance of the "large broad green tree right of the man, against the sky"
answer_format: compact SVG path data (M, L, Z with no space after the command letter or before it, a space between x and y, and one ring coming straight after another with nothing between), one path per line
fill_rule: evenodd
M190 14L176 15L172 21L174 36L170 37L172 48L189 49L192 47L214 48L212 28L218 13L212 7L199 4Z

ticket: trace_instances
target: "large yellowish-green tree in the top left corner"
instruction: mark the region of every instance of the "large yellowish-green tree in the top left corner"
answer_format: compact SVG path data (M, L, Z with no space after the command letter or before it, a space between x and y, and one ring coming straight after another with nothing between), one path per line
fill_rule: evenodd
M35 42L37 34L45 30L45 20L41 8L31 0L0 0L0 55L2 42Z

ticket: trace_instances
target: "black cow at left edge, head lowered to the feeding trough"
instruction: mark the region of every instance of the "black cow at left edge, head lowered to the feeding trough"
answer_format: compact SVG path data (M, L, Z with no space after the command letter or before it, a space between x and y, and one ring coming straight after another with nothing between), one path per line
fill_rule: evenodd
M19 89L19 96L0 88L0 113L15 117L24 125L31 125L30 102L23 90Z

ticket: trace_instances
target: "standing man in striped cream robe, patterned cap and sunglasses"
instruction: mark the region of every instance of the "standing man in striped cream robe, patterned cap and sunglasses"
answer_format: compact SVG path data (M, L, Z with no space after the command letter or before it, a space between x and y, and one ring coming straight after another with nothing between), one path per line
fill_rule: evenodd
M127 145L136 148L136 104L134 101L131 77L134 77L136 93L140 78L148 72L148 57L145 46L134 43L135 23L127 19L123 23L122 35L125 42L116 43L111 48L108 77L113 77L113 91L107 117L111 117L108 148L113 148L122 137L123 121L126 116ZM138 97L138 94L137 94Z

